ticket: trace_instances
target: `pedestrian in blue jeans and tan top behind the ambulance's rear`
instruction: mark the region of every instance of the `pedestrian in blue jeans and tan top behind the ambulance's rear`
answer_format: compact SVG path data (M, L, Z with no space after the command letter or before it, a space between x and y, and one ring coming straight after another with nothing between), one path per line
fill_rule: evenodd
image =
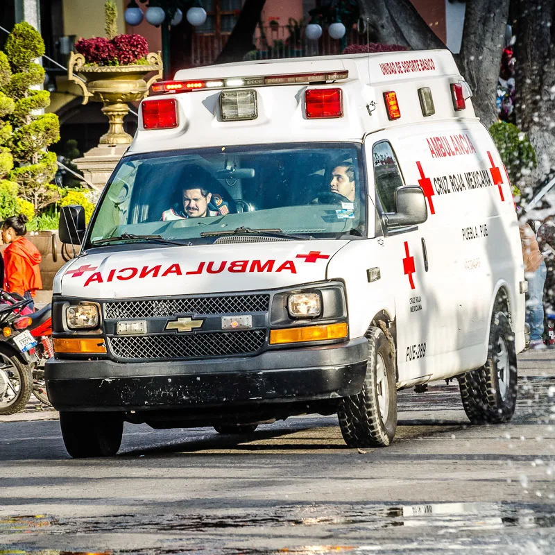
M547 268L536 240L536 234L528 223L521 223L520 241L524 275L528 282L528 300L526 303L526 321L530 326L530 348L545 348L543 342L543 286Z

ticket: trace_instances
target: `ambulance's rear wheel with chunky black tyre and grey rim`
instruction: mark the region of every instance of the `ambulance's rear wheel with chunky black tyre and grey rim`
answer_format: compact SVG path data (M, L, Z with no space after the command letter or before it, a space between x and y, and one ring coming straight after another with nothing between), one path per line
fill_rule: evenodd
M472 424L499 424L513 417L517 393L515 336L504 312L491 322L486 364L459 377L461 398Z

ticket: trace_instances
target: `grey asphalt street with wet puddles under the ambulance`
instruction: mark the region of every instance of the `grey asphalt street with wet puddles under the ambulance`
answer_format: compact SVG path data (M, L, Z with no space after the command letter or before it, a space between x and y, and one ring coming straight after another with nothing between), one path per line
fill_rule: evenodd
M555 552L555 350L519 357L506 425L459 387L399 394L391 447L345 447L336 417L127 425L113 459L72 460L56 411L0 417L0 554Z

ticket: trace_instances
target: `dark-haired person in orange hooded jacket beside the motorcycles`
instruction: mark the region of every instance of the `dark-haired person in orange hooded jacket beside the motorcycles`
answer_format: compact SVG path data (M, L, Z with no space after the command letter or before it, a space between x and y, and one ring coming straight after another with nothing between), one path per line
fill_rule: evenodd
M42 255L24 237L27 232L25 214L11 216L2 227L2 241L8 247L4 250L4 289L18 293L24 298L33 299L37 289L42 289L39 264ZM33 309L35 303L28 305Z

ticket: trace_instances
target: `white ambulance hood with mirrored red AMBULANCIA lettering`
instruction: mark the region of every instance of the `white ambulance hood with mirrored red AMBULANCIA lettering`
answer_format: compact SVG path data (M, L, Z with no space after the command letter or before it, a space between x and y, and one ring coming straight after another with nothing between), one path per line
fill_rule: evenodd
M323 281L349 241L272 241L91 253L64 266L54 293L87 299L275 289ZM59 289L59 290L57 290Z

